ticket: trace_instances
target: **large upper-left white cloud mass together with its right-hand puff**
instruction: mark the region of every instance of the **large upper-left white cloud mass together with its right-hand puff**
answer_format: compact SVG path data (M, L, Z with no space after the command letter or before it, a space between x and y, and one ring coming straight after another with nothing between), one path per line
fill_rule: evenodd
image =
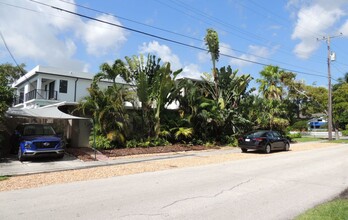
M63 1L40 1L72 12L77 11L73 4ZM69 1L74 3L73 0ZM109 49L116 53L115 50L126 41L125 32L116 27L104 28L105 25L99 23L83 22L74 15L29 1L2 2L17 6L1 5L0 30L19 63L86 70L88 64L75 58L79 52L84 51L84 45L78 43L80 39L83 39L86 50L93 56L104 55ZM99 18L117 23L110 17ZM6 52L3 44L0 44L0 51L0 54Z

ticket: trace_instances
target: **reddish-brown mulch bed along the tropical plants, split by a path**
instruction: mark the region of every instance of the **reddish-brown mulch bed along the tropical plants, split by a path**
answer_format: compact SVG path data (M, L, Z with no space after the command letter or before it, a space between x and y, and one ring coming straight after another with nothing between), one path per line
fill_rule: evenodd
M99 150L100 153L107 157L122 157L130 155L139 155L139 154L157 154L157 153L170 153L170 152L180 152L180 151L200 151L207 149L219 149L219 147L206 147L203 145L168 145L168 146L159 146L159 147L137 147L137 148L121 148L121 149L108 149L108 150ZM94 160L94 150L87 147L73 147L67 148L66 152L79 158L83 161L92 161Z

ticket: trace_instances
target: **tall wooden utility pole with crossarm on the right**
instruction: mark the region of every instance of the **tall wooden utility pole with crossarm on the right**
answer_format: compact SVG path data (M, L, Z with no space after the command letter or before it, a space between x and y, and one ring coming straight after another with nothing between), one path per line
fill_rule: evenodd
M342 33L336 36L327 36L323 37L322 39L317 38L317 40L325 40L327 43L327 76L328 76L328 90L329 90L329 97L328 97L328 120L327 120L327 128L328 128L328 139L332 140L332 86L331 86L331 49L330 49L330 39L334 37L341 36Z

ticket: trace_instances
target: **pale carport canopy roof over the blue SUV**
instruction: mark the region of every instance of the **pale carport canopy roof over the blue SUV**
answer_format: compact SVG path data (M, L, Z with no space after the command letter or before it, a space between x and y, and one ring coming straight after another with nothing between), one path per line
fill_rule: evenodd
M66 114L58 109L57 106L25 109L25 108L9 108L6 112L7 116L26 117L26 118L46 118L46 119L89 119Z

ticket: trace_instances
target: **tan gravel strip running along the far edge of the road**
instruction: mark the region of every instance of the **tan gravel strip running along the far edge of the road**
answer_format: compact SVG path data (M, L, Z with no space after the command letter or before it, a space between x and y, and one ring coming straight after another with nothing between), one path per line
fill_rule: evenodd
M291 145L290 151L312 150L323 147L337 146L331 143L301 143ZM190 153L190 152L183 152ZM289 152L278 152L280 154ZM277 154L278 154L277 153ZM7 180L0 181L0 191L9 191L25 188L47 186L51 184L62 184L76 181L87 181L93 179L109 178L143 172L155 172L160 170L201 166L214 163L223 163L231 160L242 160L249 158L268 157L270 155L260 153L226 153L200 157L175 158L162 161L147 161L132 164L111 165L105 167L95 167L82 170L70 170L62 172L52 172L43 174L31 174L24 176L14 176ZM137 157L140 157L138 155Z

